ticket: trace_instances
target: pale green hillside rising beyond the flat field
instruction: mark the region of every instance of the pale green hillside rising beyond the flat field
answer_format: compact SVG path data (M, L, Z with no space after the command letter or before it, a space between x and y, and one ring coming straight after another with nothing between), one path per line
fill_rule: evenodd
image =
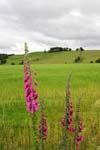
M31 61L34 64L66 64L74 63L74 60L79 56L80 52L71 51L71 52L55 52L55 53L44 53L44 52L35 52L31 53ZM88 50L82 52L82 62L90 63L100 58L100 50ZM7 64L14 62L19 64L23 59L23 55L15 55L9 57Z

